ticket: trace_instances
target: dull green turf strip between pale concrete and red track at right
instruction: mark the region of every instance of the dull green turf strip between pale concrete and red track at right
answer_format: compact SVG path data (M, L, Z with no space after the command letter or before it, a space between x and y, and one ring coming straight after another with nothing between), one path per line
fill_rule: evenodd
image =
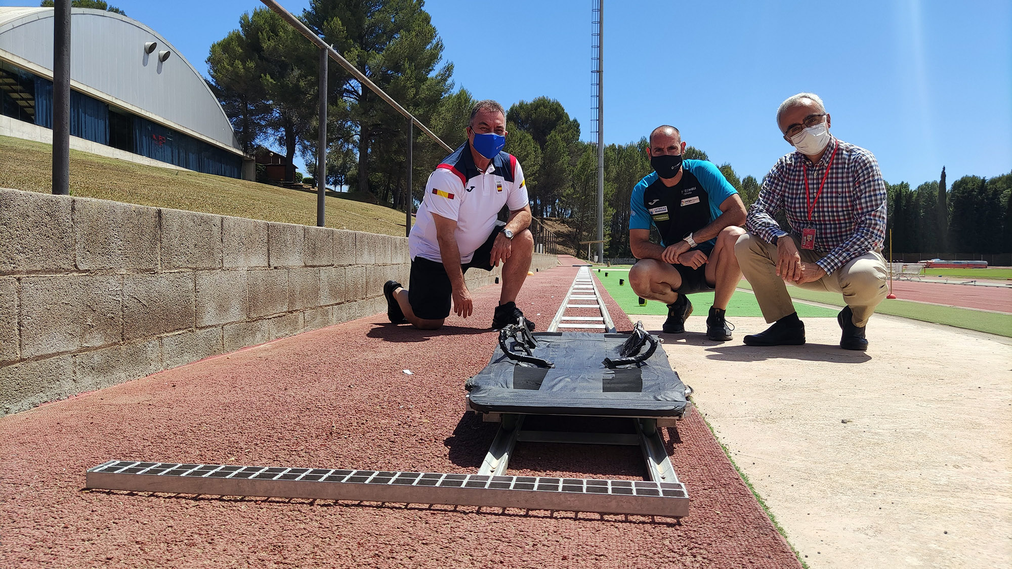
M751 289L747 280L742 280L739 284L743 289ZM610 293L611 290L609 289ZM807 291L797 287L787 287L787 292L791 298L806 301L813 301L828 305L843 306L843 297L836 293L822 293L819 291ZM634 299L635 300L635 299ZM799 305L795 305L799 306ZM890 314L892 316L902 316L913 320L924 322L934 322L945 324L956 328L977 330L988 334L998 334L1000 336L1012 337L1012 314L998 314L973 310L968 308L956 308L948 306L929 305L924 303L914 303L899 299L884 300L875 308L875 312ZM797 311L800 315L800 309Z

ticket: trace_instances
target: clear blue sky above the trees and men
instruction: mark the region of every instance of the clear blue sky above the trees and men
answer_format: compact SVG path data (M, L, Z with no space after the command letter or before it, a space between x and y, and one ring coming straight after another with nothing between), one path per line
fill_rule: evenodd
M28 2L0 0L0 5ZM110 2L164 35L198 70L256 0ZM301 13L308 0L281 0ZM454 81L505 106L559 99L591 137L590 0L430 0ZM774 115L814 91L832 132L912 185L1012 170L1012 3L605 0L604 139L654 127L741 177L790 151Z

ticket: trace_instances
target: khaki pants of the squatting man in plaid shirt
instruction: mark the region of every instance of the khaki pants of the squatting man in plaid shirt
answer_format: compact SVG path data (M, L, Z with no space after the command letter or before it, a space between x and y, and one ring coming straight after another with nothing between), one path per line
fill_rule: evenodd
M786 239L781 237L780 239ZM790 239L793 239L791 236ZM794 240L797 244L797 240ZM821 255L813 250L797 252L805 262L813 263ZM794 305L787 294L787 286L776 274L776 246L766 243L761 237L746 233L738 238L735 254L742 273L759 301L759 308L766 322L774 322L794 312ZM827 291L843 294L843 300L853 312L855 326L864 326L871 318L878 303L889 293L887 286L886 259L874 251L869 251L850 260L831 274L819 280L797 284L810 291Z

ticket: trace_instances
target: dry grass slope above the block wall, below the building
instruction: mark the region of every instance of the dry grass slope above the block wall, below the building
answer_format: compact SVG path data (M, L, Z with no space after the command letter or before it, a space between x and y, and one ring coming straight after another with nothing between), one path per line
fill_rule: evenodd
M0 137L0 187L50 192L52 147ZM71 193L220 216L316 225L316 194L70 151ZM327 227L404 236L404 213L327 196Z

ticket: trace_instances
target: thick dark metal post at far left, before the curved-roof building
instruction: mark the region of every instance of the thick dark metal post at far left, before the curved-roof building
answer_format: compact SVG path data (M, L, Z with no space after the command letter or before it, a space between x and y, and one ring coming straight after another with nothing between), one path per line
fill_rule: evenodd
M70 0L53 8L53 193L70 194Z

